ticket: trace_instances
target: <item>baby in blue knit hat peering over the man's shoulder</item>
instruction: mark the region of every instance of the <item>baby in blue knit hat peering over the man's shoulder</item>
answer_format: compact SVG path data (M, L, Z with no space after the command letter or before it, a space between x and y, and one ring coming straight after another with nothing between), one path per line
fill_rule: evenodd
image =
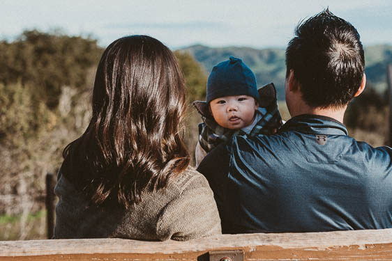
M275 86L267 84L257 90L255 74L233 56L213 67L206 102L195 101L193 105L204 121L199 124L196 167L208 152L233 135L274 134L282 125Z

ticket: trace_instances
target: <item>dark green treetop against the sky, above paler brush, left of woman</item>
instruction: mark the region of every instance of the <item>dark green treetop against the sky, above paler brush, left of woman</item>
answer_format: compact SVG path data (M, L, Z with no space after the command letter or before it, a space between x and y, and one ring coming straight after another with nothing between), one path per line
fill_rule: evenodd
M55 109L63 86L86 88L86 70L103 49L96 40L59 32L24 31L15 42L0 42L0 82L21 82Z

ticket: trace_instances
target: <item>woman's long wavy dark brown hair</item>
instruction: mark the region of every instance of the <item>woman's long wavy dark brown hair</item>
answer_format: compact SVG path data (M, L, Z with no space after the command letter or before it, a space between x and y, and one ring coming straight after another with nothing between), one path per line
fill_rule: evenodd
M162 189L184 171L183 74L162 42L132 35L103 53L86 132L63 151L61 173L91 203L140 202L142 189Z

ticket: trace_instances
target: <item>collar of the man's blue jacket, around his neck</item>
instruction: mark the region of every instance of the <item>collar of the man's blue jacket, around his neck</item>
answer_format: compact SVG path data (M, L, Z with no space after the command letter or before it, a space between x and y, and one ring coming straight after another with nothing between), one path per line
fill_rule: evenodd
M303 114L287 120L279 132L296 131L305 134L348 135L345 125L330 117Z

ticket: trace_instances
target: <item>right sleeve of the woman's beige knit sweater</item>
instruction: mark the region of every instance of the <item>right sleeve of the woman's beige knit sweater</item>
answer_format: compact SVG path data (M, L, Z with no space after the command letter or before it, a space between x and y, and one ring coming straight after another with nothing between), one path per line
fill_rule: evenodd
M204 176L197 173L188 180L160 213L156 229L160 240L186 241L221 234L218 208Z

